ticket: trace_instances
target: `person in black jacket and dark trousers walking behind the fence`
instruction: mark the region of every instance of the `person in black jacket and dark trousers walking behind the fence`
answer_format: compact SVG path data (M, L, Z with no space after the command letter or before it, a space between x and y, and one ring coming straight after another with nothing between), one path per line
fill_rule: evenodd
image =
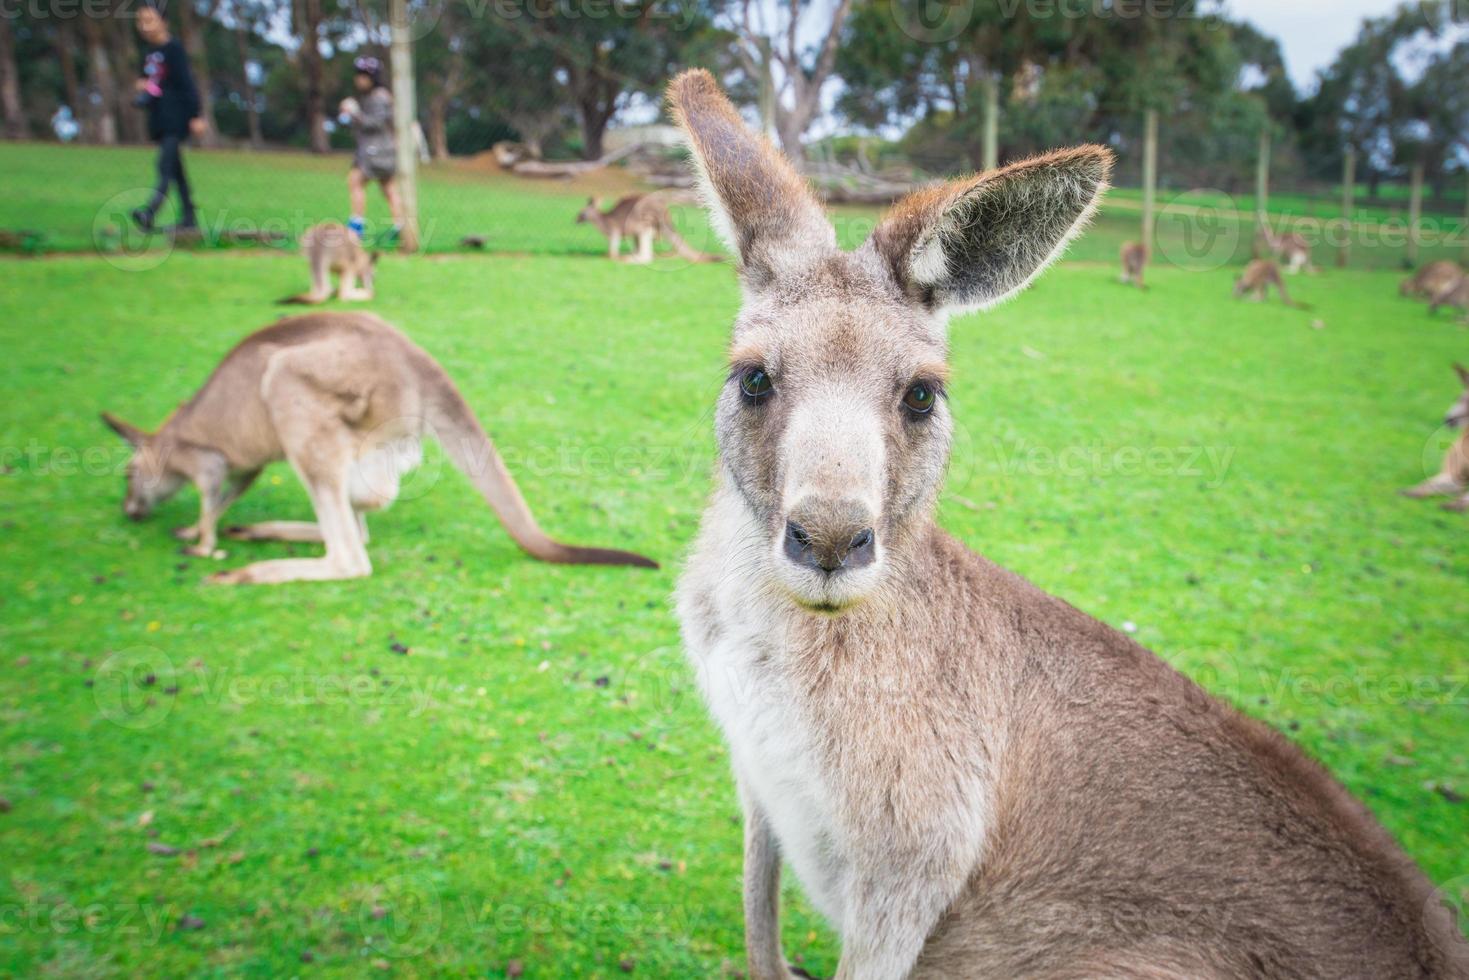
M181 148L191 132L204 132L194 72L184 46L169 34L169 25L157 9L144 6L138 10L138 34L148 43L148 54L137 81L137 101L148 110L148 138L159 144L159 184L147 206L132 212L132 220L142 231L153 231L153 219L169 195L169 184L173 184L179 190L176 231L192 231L198 222L188 178L184 176Z

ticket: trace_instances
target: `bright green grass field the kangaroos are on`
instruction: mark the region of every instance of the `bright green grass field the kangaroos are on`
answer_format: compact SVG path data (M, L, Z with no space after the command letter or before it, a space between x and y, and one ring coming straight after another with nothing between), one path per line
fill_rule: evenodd
M76 179L118 159L78 154ZM298 176L282 209L310 207ZM71 213L25 179L0 223ZM370 309L458 381L542 525L663 570L535 563L430 454L372 522L370 579L206 586L289 547L179 555L188 491L128 523L97 413L160 422L304 269L4 262L0 974L742 967L739 808L668 602L736 285L596 259L580 188L464 179L433 194L542 254L389 256ZM1293 281L1310 313L1231 301L1227 266L1140 294L1086 260L1108 235L955 322L942 522L1287 730L1469 899L1469 523L1396 495L1437 466L1469 332L1385 270ZM231 517L308 508L281 466ZM787 951L830 976L831 933L786 893Z

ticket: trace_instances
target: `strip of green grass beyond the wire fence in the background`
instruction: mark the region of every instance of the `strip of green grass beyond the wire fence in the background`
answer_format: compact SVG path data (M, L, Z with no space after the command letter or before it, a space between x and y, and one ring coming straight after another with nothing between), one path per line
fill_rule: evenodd
M201 209L207 242L222 232L273 231L294 248L303 231L320 220L345 220L345 154L191 151L187 166ZM150 239L134 231L128 212L148 197L153 151L148 147L65 147L47 143L0 144L0 170L10 192L0 203L0 229L32 229L44 235L50 251L104 251L132 254ZM605 250L589 225L574 223L586 195L616 198L635 190L621 170L576 181L533 181L495 172L485 165L455 160L423 169L420 215L427 251L460 251L466 235L482 235L492 253L538 256L593 256ZM1138 191L1121 188L1103 207L1093 234L1077 244L1072 257L1115 262L1124 241L1138 238ZM1253 198L1231 198L1218 191L1163 192L1153 259L1161 266L1190 270L1243 264L1253 244ZM172 203L170 203L172 207ZM1332 219L1312 198L1282 194L1271 200L1272 215ZM839 209L842 241L853 245L871 229L876 209ZM676 209L686 238L698 248L720 245L702 216ZM369 222L386 228L386 204L369 190ZM167 216L166 220L172 220ZM1351 266L1400 269L1404 263L1406 225L1400 213L1362 209L1354 216ZM1425 217L1421 262L1466 260L1462 217ZM154 242L157 239L153 239ZM1335 262L1334 239L1318 244L1318 264Z

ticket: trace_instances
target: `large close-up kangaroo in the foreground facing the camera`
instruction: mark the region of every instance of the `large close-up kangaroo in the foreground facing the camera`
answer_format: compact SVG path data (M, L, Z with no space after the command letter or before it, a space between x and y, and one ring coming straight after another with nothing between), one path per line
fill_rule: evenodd
M1469 976L1324 768L934 523L946 319L1031 282L1112 154L917 191L843 253L711 75L668 97L743 285L677 607L745 811L749 977L796 976L783 861L840 980Z

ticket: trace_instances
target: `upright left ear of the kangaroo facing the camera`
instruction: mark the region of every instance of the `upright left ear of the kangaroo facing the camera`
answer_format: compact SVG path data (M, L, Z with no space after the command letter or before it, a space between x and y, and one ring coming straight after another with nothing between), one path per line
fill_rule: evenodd
M668 106L689 134L714 231L739 256L746 285L836 248L815 194L770 140L749 131L712 75L692 69L674 78Z

